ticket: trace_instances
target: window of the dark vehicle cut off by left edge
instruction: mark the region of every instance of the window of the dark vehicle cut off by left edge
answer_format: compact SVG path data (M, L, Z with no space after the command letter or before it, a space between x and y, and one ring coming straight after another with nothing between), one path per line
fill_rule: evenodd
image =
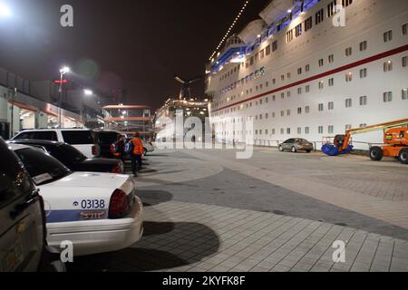
M1 139L0 156L0 208L3 208L16 198L32 193L34 184L15 153Z

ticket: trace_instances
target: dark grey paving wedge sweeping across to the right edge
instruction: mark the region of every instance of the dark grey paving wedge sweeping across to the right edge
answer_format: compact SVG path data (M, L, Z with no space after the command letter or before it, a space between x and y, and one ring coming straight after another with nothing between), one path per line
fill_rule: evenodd
M393 226L231 169L224 169L219 174L204 179L163 183L143 189L146 192L168 190L168 194L172 195L171 199L175 201L306 218L408 241L408 230L403 227Z

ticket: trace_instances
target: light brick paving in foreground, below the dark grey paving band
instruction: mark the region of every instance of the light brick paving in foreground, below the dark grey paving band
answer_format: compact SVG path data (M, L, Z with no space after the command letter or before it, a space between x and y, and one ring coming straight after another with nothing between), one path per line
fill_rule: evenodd
M408 272L408 243L350 227L252 210L169 201L146 208L145 237L129 249L83 257L95 271ZM332 247L345 242L345 263Z

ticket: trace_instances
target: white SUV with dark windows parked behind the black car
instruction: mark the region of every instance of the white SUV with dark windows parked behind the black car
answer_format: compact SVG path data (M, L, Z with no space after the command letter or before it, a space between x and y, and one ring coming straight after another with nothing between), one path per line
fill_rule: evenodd
M92 131L88 129L42 129L28 130L18 133L12 140L50 140L72 145L87 158L96 154Z

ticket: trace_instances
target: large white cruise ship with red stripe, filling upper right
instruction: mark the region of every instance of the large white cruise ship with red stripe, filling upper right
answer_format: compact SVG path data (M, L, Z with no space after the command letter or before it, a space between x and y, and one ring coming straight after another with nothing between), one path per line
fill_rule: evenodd
M408 117L408 1L273 0L209 60L209 118L219 140L325 142ZM225 123L253 121L253 131ZM383 143L383 131L354 137ZM367 146L368 145L368 146Z

